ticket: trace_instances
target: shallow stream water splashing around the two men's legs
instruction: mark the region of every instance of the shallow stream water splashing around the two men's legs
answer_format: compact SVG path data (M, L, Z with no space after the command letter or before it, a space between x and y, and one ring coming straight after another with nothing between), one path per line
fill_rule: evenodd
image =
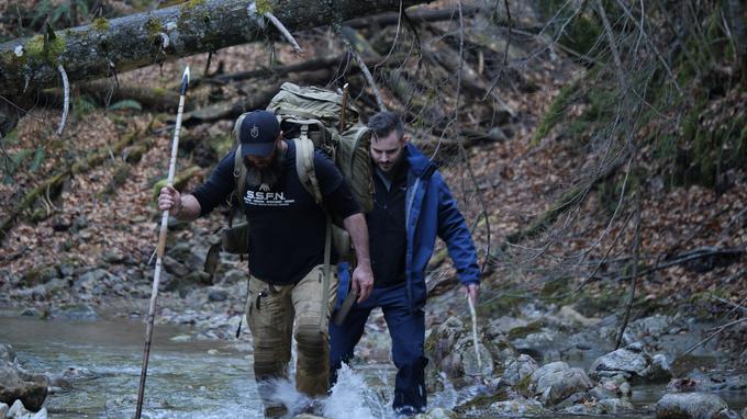
M261 418L250 348L246 343L174 339L189 331L185 327L156 326L143 417ZM47 396L44 407L52 418L132 418L144 335L142 322L123 319L0 317L0 342L14 348L24 369L51 375L75 369L71 371L78 378L54 387ZM324 415L333 419L393 418L389 407L393 366L357 364L354 370L341 372L332 395L322 403ZM444 392L430 395L430 408L453 408L478 390L445 387ZM632 401L637 412L627 417L651 417L650 406L661 394L662 386L636 387ZM292 383L278 383L277 395L289 406L308 403ZM744 400L726 398L726 401L733 408L744 406ZM477 412L470 417L490 416ZM561 417L568 416L543 416Z

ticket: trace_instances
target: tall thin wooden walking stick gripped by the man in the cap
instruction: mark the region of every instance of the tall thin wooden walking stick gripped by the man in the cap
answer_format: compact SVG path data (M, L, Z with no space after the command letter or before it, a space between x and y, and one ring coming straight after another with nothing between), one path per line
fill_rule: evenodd
M179 109L177 111L177 123L174 128L174 141L171 144L171 158L168 163L168 179L166 184L171 186L174 184L174 172L177 167L177 150L179 149L179 129L181 128L181 114L185 111L185 97L187 95L187 87L189 86L189 66L185 69L181 76L181 91L179 92ZM143 369L141 370L141 384L137 390L137 410L135 419L141 418L143 412L143 396L145 394L145 376L148 370L148 358L150 355L150 339L153 338L153 320L156 317L156 298L158 297L158 282L160 280L160 268L164 258L164 250L166 249L166 229L168 227L168 210L164 211L160 217L160 231L158 234L158 248L156 259L156 271L153 274L153 291L150 292L150 306L148 307L147 326L145 328L145 351L143 353Z

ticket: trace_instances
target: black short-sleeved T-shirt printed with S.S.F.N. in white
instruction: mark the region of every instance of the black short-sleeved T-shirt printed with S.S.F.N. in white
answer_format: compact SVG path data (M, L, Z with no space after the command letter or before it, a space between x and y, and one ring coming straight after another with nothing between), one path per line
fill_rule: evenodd
M288 150L278 182L269 190L247 184L243 197L249 222L249 271L276 285L296 283L324 263L326 234L324 210L303 188L296 171L296 145L286 144ZM325 206L342 218L360 212L343 175L319 150L314 154L314 169ZM235 190L233 171L234 151L194 191L200 215L211 212Z

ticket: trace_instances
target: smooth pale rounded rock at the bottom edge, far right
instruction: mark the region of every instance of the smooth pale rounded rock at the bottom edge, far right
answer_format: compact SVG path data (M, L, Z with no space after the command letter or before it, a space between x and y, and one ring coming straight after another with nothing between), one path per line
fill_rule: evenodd
M656 404L657 419L710 419L722 411L728 411L726 403L707 393L666 394Z

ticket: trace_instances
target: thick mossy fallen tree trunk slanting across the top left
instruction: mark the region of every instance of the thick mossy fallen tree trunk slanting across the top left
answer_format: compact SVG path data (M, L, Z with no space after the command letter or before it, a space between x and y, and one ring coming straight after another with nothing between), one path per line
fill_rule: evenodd
M403 7L427 3L405 0ZM258 41L277 33L260 15L274 13L290 31L400 10L399 0L191 0L108 21L96 19L55 34L0 44L0 95L59 83L57 65L71 82L112 76L156 63ZM263 10L267 8L268 10Z

